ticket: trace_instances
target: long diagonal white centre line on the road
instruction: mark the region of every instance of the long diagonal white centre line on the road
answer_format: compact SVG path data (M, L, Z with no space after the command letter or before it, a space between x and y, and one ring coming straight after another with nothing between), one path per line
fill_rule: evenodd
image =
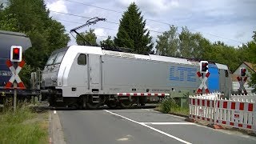
M142 122L136 122L136 121L134 121L134 120L132 120L132 119L130 119L130 118L126 118L126 117L124 117L124 116L122 116L122 115L115 114L115 113L113 113L113 112L111 112L111 111L109 111L109 110L105 110L105 111L108 112L108 113L110 113L110 114L114 114L114 115L116 115L116 116L118 116L118 117L125 118L126 120L128 120L128 121L130 121L130 122L138 123L139 125L142 125L142 126L145 126L145 127L147 127L147 128L150 128L151 130L157 131L158 133L164 134L164 135L166 135L166 136L168 136L168 137L170 137L170 138L174 138L174 139L176 139L176 140L179 141L179 142L183 142L183 143L186 143L186 144L191 144L190 142L186 142L186 141L182 140L181 138L175 137L174 135L167 134L167 133L163 132L162 130L158 130L158 129L155 129L154 127L147 126L146 124L144 124L144 123L142 123Z

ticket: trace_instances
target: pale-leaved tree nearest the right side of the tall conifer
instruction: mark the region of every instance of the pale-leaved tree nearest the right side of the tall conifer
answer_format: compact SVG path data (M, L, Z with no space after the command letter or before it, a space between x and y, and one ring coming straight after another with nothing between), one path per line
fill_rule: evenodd
M176 57L178 54L178 27L170 26L170 30L158 35L157 46L158 54Z

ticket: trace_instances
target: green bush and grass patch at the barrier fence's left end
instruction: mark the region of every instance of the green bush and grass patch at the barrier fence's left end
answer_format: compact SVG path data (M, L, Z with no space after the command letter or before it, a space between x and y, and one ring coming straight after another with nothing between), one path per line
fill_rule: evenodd
M178 106L178 104L174 101L173 98L164 99L160 103L158 110L166 114L168 113L168 114L189 115L189 108L188 107L182 108Z

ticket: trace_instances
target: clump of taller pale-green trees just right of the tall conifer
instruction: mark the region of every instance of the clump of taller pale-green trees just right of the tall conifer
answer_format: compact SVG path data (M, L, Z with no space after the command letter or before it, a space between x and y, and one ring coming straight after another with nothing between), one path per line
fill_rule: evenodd
M170 26L170 30L158 35L156 49L160 55L202 58L209 46L209 40L203 38L202 34L193 34L186 27L182 27L181 34L178 34L178 27Z

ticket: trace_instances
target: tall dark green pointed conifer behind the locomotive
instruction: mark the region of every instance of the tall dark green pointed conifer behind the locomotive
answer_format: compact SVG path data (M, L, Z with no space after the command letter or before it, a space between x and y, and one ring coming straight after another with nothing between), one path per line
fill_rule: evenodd
M130 48L136 54L149 54L153 48L152 37L150 31L145 28L146 20L143 20L141 14L138 6L134 2L131 3L122 15L114 44Z

